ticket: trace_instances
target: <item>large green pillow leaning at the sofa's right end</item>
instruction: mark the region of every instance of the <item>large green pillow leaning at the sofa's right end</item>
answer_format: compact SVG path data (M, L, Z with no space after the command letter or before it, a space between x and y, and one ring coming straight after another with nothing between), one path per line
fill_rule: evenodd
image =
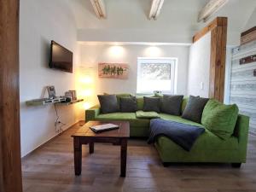
M237 116L236 104L224 105L211 99L203 110L201 124L216 136L226 140L234 132Z

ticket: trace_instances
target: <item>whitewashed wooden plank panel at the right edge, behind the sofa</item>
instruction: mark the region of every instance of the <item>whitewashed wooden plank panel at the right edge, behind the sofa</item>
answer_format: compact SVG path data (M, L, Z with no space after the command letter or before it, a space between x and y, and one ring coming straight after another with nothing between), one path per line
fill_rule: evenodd
M256 134L256 61L240 64L250 55L256 55L256 40L232 50L230 102L238 105L239 113L250 117L250 131Z

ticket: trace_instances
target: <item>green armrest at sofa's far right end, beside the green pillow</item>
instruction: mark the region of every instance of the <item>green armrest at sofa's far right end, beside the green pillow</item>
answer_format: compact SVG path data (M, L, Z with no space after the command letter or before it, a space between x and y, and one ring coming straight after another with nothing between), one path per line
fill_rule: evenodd
M238 114L234 136L238 137L239 143L247 145L250 118L246 115Z

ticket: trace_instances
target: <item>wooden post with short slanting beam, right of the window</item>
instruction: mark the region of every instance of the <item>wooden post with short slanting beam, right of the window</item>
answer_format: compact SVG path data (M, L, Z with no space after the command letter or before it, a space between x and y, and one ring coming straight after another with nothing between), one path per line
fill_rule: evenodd
M224 102L227 26L227 17L217 17L193 37L195 43L207 32L211 32L209 97L219 102Z

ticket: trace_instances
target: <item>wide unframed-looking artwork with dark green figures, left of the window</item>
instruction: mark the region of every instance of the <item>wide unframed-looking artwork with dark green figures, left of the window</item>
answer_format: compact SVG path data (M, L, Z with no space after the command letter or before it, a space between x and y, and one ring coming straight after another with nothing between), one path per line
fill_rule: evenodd
M125 63L99 63L99 78L128 79L128 65Z

